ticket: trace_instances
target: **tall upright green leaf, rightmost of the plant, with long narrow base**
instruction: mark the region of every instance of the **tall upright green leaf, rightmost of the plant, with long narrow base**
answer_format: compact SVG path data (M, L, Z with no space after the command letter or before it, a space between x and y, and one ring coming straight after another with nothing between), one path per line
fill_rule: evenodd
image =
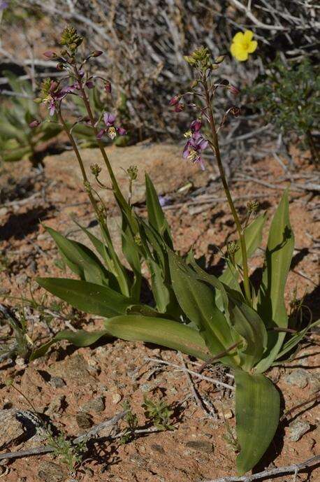
M273 216L266 249L266 268L259 290L258 312L266 328L288 326L284 304L284 288L293 255L294 238L289 220L288 190ZM285 333L268 331L266 356L257 365L259 373L266 371L275 360L284 341Z

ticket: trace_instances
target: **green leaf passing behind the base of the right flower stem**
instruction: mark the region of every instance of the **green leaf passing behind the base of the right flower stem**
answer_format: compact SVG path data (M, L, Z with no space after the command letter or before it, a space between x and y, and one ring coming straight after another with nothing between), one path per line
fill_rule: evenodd
M247 247L248 258L254 254L256 248L259 248L262 239L262 230L266 222L266 214L259 215L254 221L252 221L245 229L245 243ZM242 265L241 250L235 253L236 264ZM227 266L224 272L219 276L219 280L225 285L230 286L233 290L239 290L238 282L235 279L233 270L230 266Z

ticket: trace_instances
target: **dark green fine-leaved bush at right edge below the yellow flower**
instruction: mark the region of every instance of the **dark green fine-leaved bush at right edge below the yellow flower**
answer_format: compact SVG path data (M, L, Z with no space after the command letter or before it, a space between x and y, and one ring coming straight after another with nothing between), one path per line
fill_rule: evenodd
M286 136L296 134L310 148L314 161L319 162L317 140L312 134L320 122L319 66L305 57L299 64L288 66L277 57L268 65L267 73L259 76L247 88L252 108L266 113Z

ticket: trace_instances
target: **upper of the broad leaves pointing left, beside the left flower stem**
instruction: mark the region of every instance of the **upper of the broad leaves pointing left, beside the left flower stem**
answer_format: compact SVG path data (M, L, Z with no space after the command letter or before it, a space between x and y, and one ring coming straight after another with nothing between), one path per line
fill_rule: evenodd
M89 250L84 244L78 243L78 241L62 236L52 227L45 226L45 229L54 239L61 257L73 273L82 280L96 283L96 285L108 285L108 271L92 250Z

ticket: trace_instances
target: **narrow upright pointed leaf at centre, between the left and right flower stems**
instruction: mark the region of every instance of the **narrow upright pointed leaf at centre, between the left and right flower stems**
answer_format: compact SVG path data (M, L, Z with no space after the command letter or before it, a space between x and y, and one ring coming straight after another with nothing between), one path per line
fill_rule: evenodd
M145 173L145 190L149 223L159 234L161 234L161 236L163 236L163 239L168 246L172 248L173 244L170 228L162 211L157 191L147 173Z

